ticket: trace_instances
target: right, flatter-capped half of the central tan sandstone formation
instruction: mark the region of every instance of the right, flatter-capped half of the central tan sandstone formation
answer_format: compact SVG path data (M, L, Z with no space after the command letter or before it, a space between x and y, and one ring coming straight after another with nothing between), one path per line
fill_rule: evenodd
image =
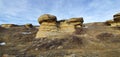
M75 28L80 28L83 25L83 18L70 18L68 20L65 21L61 21L60 22L60 30L61 32L68 32L68 33L72 33L74 32L76 29Z

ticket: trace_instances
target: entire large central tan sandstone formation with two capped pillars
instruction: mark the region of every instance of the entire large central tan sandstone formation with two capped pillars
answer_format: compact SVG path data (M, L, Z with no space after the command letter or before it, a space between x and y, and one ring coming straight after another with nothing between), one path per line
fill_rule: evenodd
M56 16L44 14L38 18L38 22L40 27L36 38L44 38L62 33L73 33L76 28L82 27L84 21L82 17L57 21Z

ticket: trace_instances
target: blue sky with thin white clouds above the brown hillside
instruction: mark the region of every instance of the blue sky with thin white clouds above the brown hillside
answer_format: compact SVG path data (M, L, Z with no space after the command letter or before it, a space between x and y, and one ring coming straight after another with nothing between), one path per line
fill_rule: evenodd
M42 14L58 20L83 17L85 23L103 22L120 12L120 0L0 0L0 24L39 25Z

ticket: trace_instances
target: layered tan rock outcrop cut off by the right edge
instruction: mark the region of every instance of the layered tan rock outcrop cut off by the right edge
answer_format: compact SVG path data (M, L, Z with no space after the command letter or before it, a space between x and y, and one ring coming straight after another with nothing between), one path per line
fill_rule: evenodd
M113 20L108 20L105 23L112 27L120 27L120 13L113 15Z

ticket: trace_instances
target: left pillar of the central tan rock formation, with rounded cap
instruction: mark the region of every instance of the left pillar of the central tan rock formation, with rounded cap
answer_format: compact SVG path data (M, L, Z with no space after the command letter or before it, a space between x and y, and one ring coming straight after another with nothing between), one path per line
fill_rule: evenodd
M43 38L52 35L57 31L57 18L54 15L44 14L38 18L38 22L41 24L36 38Z

